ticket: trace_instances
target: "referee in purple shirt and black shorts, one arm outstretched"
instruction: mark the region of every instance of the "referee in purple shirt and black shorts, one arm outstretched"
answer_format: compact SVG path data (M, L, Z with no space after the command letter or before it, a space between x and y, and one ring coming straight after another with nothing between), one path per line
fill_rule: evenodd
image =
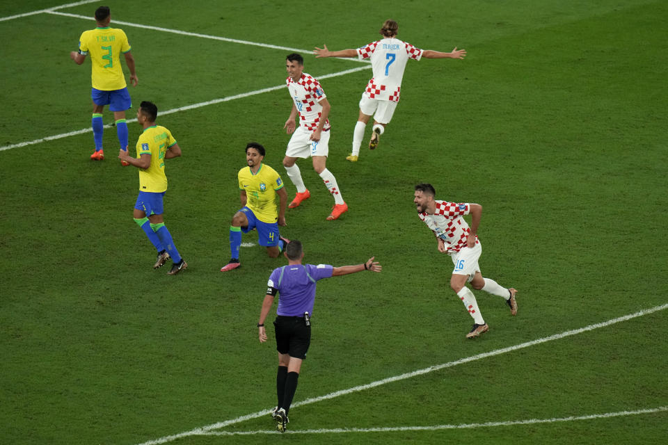
M267 296L262 302L260 321L257 323L260 343L267 341L264 321L269 315L276 293L280 293L276 321L276 350L278 350L278 372L276 373L276 396L278 405L271 411L280 432L285 432L287 413L297 389L301 362L311 341L310 316L313 313L315 284L318 280L338 275L372 270L380 272L382 266L371 257L357 266L333 267L328 264L301 264L304 251L301 242L290 241L285 249L288 264L273 270L267 282Z

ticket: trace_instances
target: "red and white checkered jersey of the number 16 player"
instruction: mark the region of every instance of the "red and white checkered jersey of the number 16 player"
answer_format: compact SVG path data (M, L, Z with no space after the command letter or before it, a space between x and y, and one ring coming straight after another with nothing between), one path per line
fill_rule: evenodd
M471 233L468 223L463 218L470 211L468 203L436 201L434 215L429 215L426 211L417 215L438 238L445 241L448 253L456 253L466 247L466 238ZM477 235L475 243L480 243Z

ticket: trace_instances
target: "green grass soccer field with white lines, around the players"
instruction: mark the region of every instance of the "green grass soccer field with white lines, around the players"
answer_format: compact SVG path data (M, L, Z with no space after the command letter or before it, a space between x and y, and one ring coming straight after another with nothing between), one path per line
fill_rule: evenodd
M292 106L285 56L300 52L332 110L328 169L281 234L305 261L380 274L318 284L313 337L287 442L647 444L668 436L668 40L664 1L114 1L132 44L136 106L183 156L166 162L166 225L189 268L152 270L132 220L138 174L89 160L90 60L69 52L100 2L0 0L0 443L263 444L280 435L276 349L257 341L271 270L257 234L242 267L228 228L246 143L281 160ZM360 47L385 19L422 49L409 60L381 145L350 163L370 65L316 59ZM123 63L126 79L129 76ZM105 109L104 123L113 115ZM512 317L475 291L489 332L450 290L413 186L477 202L482 273L518 289ZM468 217L467 217L468 218ZM275 314L275 307L272 314ZM273 320L270 314L269 321Z

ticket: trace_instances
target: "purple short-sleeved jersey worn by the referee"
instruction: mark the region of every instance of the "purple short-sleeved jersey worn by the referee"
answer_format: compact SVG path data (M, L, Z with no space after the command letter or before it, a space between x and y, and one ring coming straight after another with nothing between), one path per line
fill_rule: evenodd
M274 269L267 286L278 289L276 313L282 316L313 314L315 283L331 277L333 269L329 264L289 264Z

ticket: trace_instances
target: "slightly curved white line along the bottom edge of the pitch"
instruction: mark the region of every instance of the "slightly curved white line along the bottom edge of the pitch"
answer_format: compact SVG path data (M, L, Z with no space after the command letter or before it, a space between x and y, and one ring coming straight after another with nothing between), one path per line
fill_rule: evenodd
M587 416L555 417L552 419L526 419L485 423L459 423L459 425L433 426L395 426L387 428L320 428L317 430L287 430L285 434L331 434L341 432L403 432L403 431L436 431L436 430L463 430L468 428L489 428L494 426L535 425L537 423L572 422L578 420L610 419L610 417L637 416L639 414L655 414L668 411L668 406L649 408L646 410L606 412L605 414L589 414ZM202 432L202 436L250 436L259 434L283 434L277 430L258 431L209 431Z

